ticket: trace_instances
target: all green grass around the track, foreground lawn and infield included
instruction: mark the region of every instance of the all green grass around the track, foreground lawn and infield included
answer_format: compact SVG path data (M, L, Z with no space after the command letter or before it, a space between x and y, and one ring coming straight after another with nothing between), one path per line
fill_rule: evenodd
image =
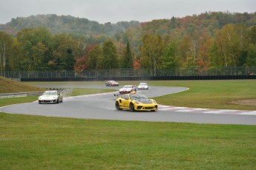
M158 103L172 106L204 107L204 103L209 103L207 106L215 108L222 105L233 108L229 104L232 101L256 98L253 90L256 81L151 81L149 84L190 88L155 98ZM85 95L91 90L74 89L73 95ZM0 99L0 106L34 100L35 97ZM47 118L0 112L0 167L255 169L255 134L256 126Z

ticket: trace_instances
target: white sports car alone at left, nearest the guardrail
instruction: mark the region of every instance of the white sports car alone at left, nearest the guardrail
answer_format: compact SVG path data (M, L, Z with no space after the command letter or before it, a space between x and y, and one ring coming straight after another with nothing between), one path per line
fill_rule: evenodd
M48 90L39 96L39 104L59 102L63 102L63 97L57 90Z

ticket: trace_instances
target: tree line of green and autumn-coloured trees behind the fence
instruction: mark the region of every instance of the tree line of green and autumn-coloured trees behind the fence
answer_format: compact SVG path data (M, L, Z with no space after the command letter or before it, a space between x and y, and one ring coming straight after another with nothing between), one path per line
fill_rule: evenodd
M256 66L252 18L222 27L198 18L155 20L114 36L53 34L45 27L0 32L0 71L150 68L155 75L158 68Z

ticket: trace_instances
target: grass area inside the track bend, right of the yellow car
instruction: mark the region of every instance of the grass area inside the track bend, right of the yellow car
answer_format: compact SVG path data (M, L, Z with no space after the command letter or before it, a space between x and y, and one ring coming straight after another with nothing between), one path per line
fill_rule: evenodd
M156 99L163 105L187 106L209 109L256 110L252 105L237 104L235 101L256 101L256 81L162 81L151 82L157 86L184 86L189 90Z

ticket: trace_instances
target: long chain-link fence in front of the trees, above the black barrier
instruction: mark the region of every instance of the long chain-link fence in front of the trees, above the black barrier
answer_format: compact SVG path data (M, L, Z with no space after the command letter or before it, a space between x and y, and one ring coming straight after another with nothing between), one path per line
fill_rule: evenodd
M93 69L75 72L62 71L6 71L0 72L6 78L117 78L147 76L204 76L204 75L255 75L256 67L209 67L173 69Z

